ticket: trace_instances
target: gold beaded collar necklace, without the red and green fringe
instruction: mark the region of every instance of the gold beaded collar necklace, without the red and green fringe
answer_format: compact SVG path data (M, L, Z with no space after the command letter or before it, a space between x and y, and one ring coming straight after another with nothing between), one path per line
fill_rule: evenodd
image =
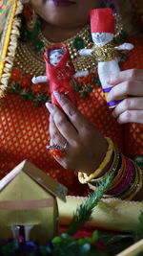
M16 64L18 64L23 71L31 74L31 76L45 74L45 61L43 59L43 54L45 50L53 44L42 34L41 30L39 32L38 39L44 43L44 47L39 53L35 53L31 41L27 43L20 43L16 52ZM80 40L83 40L83 48L92 48L93 42L91 39L89 25L85 26L79 33L72 36L70 39L62 42L68 46L75 71L95 69L97 66L95 58L93 56L80 57L78 49L74 47L74 44L78 43Z

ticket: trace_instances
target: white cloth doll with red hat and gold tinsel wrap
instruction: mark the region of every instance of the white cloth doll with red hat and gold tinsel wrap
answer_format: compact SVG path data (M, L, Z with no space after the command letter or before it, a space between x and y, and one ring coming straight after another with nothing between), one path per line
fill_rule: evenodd
M92 49L82 49L79 54L93 55L98 62L98 76L101 81L105 98L112 89L106 80L111 74L120 71L118 60L116 58L117 50L132 50L133 44L123 43L117 47L113 44L115 19L111 8L94 9L90 12L91 15L91 31L92 41L94 45ZM125 97L124 97L125 98ZM110 108L118 105L122 99L108 102Z

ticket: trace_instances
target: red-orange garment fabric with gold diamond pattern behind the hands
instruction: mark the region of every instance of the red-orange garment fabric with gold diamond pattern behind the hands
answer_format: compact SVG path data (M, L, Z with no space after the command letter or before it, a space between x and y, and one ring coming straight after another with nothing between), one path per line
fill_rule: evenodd
M143 49L141 42L134 41L135 49L122 69L142 68ZM128 156L143 154L143 126L128 124L120 126L112 117L102 89L94 87L86 99L77 95L79 109L104 135ZM87 185L78 182L77 176L63 169L48 153L49 113L46 106L35 106L22 101L17 95L8 94L0 101L0 177L8 174L22 160L28 159L59 182L66 185L71 195L85 196Z

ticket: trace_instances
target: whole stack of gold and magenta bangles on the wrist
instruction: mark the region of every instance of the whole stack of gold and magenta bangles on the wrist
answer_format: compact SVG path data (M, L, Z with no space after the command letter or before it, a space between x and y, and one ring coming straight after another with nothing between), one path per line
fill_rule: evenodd
M88 183L92 190L96 190L101 181L105 180L108 175L113 174L112 185L109 188L106 197L131 200L143 185L142 170L133 162L133 160L125 157L118 151L111 139L106 139L109 143L109 147L100 166L94 173L92 173L92 175L88 176L84 173L79 173L78 179L80 183ZM111 160L111 167L105 175L102 175L104 168Z

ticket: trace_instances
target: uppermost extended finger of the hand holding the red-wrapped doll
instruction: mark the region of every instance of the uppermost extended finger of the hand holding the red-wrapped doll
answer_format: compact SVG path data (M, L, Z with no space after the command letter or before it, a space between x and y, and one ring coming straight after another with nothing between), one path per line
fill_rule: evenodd
M64 95L58 92L54 92L57 102L63 108L66 115L69 117L74 128L77 129L78 133L92 128L91 122L81 114L81 112L72 105L72 102Z

